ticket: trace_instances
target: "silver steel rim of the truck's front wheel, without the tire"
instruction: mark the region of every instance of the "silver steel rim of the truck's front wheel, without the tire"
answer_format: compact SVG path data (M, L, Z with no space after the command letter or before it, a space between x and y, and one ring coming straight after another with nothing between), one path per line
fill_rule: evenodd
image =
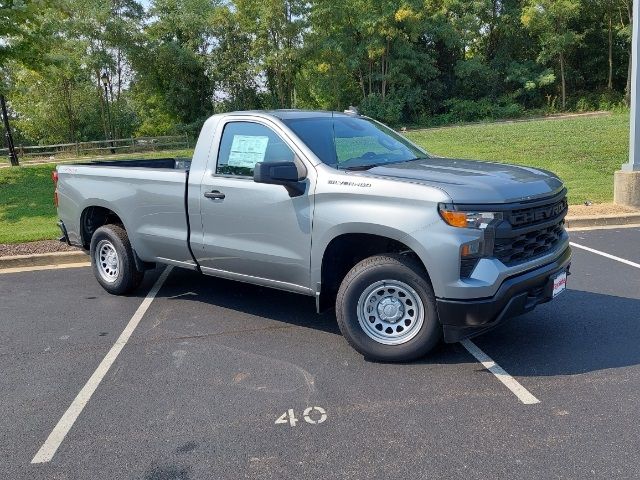
M400 345L420 332L424 304L406 283L381 280L369 285L360 295L358 322L372 340L384 345Z

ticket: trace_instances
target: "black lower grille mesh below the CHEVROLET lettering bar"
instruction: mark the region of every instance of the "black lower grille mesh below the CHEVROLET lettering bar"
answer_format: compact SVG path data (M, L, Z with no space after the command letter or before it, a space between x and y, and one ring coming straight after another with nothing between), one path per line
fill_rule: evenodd
M555 225L512 238L496 238L493 253L505 265L517 265L551 251L563 232L564 220L561 220Z

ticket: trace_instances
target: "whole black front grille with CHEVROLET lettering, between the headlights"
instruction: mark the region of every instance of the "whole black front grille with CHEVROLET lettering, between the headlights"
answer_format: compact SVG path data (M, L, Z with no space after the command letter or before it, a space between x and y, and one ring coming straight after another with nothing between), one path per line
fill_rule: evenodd
M566 214L564 195L505 212L505 221L496 228L495 258L510 267L549 253L562 239Z

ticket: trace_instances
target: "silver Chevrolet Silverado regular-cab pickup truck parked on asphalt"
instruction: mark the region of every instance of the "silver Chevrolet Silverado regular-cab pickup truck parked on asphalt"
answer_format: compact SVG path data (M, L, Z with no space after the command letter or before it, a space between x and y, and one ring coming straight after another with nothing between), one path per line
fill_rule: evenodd
M108 292L170 264L315 296L372 359L482 333L551 300L569 273L555 175L434 157L356 113L215 115L191 160L54 177L63 239L90 251Z

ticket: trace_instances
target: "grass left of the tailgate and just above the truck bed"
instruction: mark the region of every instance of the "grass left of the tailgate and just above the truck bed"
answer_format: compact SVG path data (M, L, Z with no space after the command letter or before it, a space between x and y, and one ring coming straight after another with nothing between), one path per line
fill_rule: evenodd
M190 157L191 154L191 150L176 150L134 153L118 159ZM0 243L21 243L60 237L60 230L56 225L56 209L53 205L51 171L54 168L55 163L0 168Z

